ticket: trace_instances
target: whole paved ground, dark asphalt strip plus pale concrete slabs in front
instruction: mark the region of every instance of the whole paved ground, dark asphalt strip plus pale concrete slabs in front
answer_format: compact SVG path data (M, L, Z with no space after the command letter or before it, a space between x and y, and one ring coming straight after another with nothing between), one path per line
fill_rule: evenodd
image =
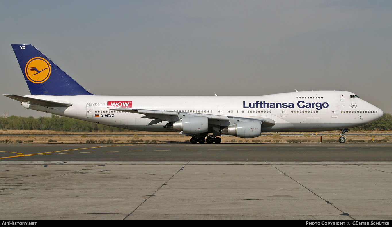
M4 220L392 219L389 143L0 145Z

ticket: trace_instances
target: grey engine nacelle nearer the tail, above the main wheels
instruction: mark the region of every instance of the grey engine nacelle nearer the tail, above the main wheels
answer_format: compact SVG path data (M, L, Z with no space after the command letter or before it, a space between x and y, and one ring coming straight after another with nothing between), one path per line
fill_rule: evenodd
M180 121L167 123L165 128L183 133L204 133L208 131L208 117L184 117Z

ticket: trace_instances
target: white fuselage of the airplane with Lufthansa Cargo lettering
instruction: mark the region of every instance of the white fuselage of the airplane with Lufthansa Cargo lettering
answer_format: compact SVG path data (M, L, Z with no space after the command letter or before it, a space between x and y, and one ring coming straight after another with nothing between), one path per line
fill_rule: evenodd
M371 123L383 115L376 106L345 91L305 91L263 96L25 96L72 104L69 107L47 108L22 103L25 108L142 131L167 131L163 126L168 122L148 125L152 119L143 118L143 114L118 109L125 107L250 119L268 118L276 123L263 127L262 132L348 129ZM108 106L109 102L112 106Z

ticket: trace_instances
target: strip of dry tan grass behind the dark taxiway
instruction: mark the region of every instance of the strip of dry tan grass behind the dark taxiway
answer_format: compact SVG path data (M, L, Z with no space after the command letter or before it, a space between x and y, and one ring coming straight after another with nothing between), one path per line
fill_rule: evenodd
M130 135L124 135L125 132L90 132L90 133L68 133L68 132L54 132L54 131L39 131L39 130L1 130L0 131L0 141L5 141L8 139L15 143L15 141L20 140L23 143L86 143L86 141L96 141L97 143L105 141L113 143L183 143L186 140L189 141L190 137L185 135L179 135L177 132L129 132ZM328 133L328 135L323 135L323 141L338 141L340 131L330 131L322 132L323 134ZM372 136L368 133L391 133L391 131L381 131L381 132L351 132L351 133L365 133L365 135L350 135L347 133L348 139L354 141L364 140L368 142L374 138L375 140L382 140L387 138L387 141L392 142L392 137L383 136ZM9 134L17 134L22 136L11 136ZM44 136L36 135L24 135L24 134L40 134ZM62 134L62 135L53 135ZM153 134L153 135L149 135ZM238 138L234 136L221 137L222 143L285 143L287 141L309 141L309 142L320 142L320 136L316 135L316 132L303 133L270 133L272 135L261 135L256 138ZM285 135L282 135L285 134ZM290 134L303 134L303 135L290 135ZM23 136L24 135L24 136ZM347 142L348 142L347 139ZM48 142L51 140L52 142ZM33 141L33 142L31 142ZM57 141L57 142L53 142Z

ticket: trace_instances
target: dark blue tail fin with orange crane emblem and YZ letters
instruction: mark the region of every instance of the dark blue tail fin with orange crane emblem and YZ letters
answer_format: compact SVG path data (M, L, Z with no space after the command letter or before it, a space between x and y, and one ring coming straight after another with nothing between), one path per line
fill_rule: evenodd
M32 95L93 95L31 44L11 44Z

